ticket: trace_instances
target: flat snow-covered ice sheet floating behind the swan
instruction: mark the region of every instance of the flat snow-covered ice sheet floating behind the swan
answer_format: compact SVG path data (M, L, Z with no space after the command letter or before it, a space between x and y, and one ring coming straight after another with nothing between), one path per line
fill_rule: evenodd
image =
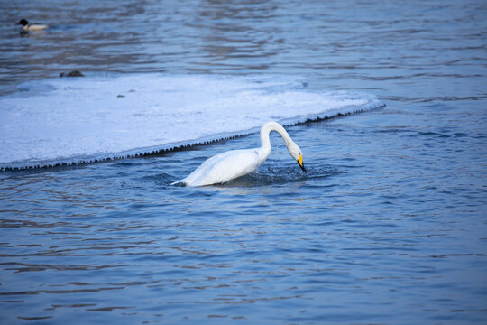
M370 94L311 92L273 76L50 79L0 98L0 168L153 153L249 134L270 120L293 125L381 106Z

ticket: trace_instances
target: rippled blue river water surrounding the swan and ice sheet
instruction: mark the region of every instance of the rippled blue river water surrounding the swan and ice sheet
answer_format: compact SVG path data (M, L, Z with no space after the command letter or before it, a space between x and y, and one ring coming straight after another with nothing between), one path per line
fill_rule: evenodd
M487 320L485 2L0 10L2 96L69 70L87 79L265 74L387 105L289 126L307 174L272 135L258 172L170 186L213 154L258 146L255 134L0 172L1 323ZM21 34L23 17L51 28Z

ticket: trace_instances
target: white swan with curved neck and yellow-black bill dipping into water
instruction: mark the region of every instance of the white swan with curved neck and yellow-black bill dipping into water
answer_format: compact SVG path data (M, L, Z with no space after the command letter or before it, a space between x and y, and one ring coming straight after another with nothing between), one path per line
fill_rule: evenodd
M282 125L276 122L269 122L263 125L261 129L261 147L216 154L216 156L202 163L194 172L191 172L188 177L175 181L171 185L205 186L224 183L249 172L255 172L271 154L271 140L269 139L271 131L276 131L282 136L290 155L296 159L303 172L306 172L303 164L303 155L298 144L292 141Z

